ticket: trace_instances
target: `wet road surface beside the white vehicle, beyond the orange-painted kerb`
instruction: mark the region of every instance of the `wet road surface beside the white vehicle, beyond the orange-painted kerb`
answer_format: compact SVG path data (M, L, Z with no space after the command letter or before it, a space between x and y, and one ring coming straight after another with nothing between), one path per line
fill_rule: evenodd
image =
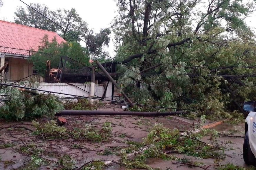
M226 158L220 162L220 164L227 164L227 163L232 163L238 166L242 166L245 168L250 168L247 166L244 161L243 161L243 156L242 156L242 149L243 149L243 141L244 141L244 124L240 123L238 125L230 125L226 123L222 123L220 125L217 125L214 127L217 131L219 131L221 134L231 134L228 136L241 136L241 137L225 137L222 136L219 138L220 143L227 143L230 142L229 144L223 145L225 147L225 155ZM209 136L206 136L203 138L204 142L209 142ZM183 155L183 154L175 154L175 156L179 158L188 158L191 161L197 161L197 162L202 162L204 165L202 167L206 168L209 165L215 164L214 159L201 159L197 160L195 157ZM180 166L180 164L172 164L172 162L175 161L166 161L162 159L156 159L156 158L151 158L147 160L147 164L155 167L155 168L160 168L164 170L171 170L171 169L180 169L180 170L191 170L191 169L201 169L197 167L188 167L188 166ZM109 167L108 169L126 169L126 168L120 168L117 166L112 166ZM210 166L207 169L215 169L214 166Z

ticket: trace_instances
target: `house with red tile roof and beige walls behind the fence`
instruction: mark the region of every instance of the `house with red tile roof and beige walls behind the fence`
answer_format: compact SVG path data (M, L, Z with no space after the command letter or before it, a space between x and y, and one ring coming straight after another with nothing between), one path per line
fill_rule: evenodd
M57 33L0 20L0 68L8 62L4 70L8 80L33 74L33 64L28 60L29 50L37 51L45 35L49 41L56 38L58 43L66 42Z

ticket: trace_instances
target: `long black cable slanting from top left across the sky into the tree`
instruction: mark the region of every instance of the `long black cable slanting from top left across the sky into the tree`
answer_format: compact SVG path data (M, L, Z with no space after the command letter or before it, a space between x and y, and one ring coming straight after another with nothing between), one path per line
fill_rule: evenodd
M45 16L45 15L42 14L41 12L37 11L37 10L34 9L33 7L31 7L31 6L29 6L28 4L26 4L25 2L23 2L22 0L19 0L19 1L21 1L22 3L24 3L25 5L27 5L29 8L33 9L34 11L38 12L40 15L44 16L45 18L47 18L48 20L50 20L51 22L53 22L54 24L56 24L57 26L59 26L60 28L62 28L63 30L66 30L68 33L72 34L73 36L75 36L75 37L78 38L79 40L82 40L82 39L79 38L77 35L73 34L73 33L70 32L69 30L63 28L63 27L60 26L58 23L54 22L53 20L51 20L50 18L48 18L47 16ZM171 90L171 89L169 89L169 88L167 88L167 87L165 87L165 86L163 86L163 85L161 85L161 84L159 84L159 83L157 83L157 82L155 82L155 81L153 81L153 80L151 80L151 79L149 79L149 78L143 76L143 75L140 74L139 72L136 72L136 71L134 71L133 69L127 67L126 65L124 65L124 64L122 64L121 62L115 60L114 58L110 57L109 55L107 55L106 53L104 53L104 52L102 52L101 50L97 49L96 47L90 45L90 44L87 43L86 41L84 41L84 40L82 40L82 41L83 41L84 43L86 43L87 45L89 45L90 47L94 48L95 50L97 50L97 51L101 52L102 54L106 55L107 57L111 58L111 59L114 60L115 62L117 62L117 63L123 65L123 66L126 67L127 69L132 70L133 72L139 74L141 77L144 77L145 79L147 79L147 80L149 80L149 81L152 81L154 84L157 84L157 85L159 85L159 86L161 86L161 87L163 87L163 88L165 88L165 89L167 89L167 90L169 90L169 91L171 91L171 92L173 92L173 93L176 93L176 94L180 95L178 92L173 91L173 90ZM186 97L186 96L184 96L184 95L180 95L180 96L182 96L182 97L184 97L184 98L187 98L187 99L189 99L189 100L192 100L192 101L196 101L195 99L188 98L188 97ZM198 101L197 101L197 102L198 102Z

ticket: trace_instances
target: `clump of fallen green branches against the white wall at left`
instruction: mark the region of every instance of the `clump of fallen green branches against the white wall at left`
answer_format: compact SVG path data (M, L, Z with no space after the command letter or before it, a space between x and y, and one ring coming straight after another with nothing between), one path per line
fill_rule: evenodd
M34 84L29 87L37 88ZM0 108L0 118L6 120L32 119L42 116L53 118L60 110L64 110L63 105L52 94L34 94L33 91L21 91L14 87L6 87L1 92L7 95L5 98L7 101L4 101L4 106Z

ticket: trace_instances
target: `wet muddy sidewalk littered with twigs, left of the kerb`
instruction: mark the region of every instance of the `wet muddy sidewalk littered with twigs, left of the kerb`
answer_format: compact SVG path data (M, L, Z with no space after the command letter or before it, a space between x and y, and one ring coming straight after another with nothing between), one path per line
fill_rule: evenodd
M108 108L112 109L112 108ZM31 154L23 152L21 148L25 147L22 141L26 145L35 145L36 148L42 149L45 156L42 156L50 161L58 161L54 157L50 157L47 153L54 154L68 154L70 157L76 159L77 167L81 166L85 162L91 160L119 160L120 156L112 151L112 154L102 155L105 149L113 150L128 145L124 141L142 142L143 137L149 132L149 128L155 123L162 123L164 127L173 129L178 128L181 131L185 131L191 128L190 122L185 122L183 118L173 118L171 116L159 116L159 117L138 117L138 116L65 116L67 123L65 127L68 130L72 130L74 127L83 128L84 125L94 125L101 127L104 122L112 123L112 135L108 141L101 143L93 143L90 141L76 141L74 139L62 140L62 139L43 139L40 135L32 135L30 131L20 128L5 128L0 131L0 148L1 145L9 143L10 147L0 149L0 169L18 169L25 165ZM46 123L47 119L40 119L41 123ZM0 120L0 128L7 126L23 126L31 130L35 128L31 125L31 122L4 122ZM22 140L22 141L21 141ZM80 144L84 146L83 149L72 148L72 143ZM49 164L50 169L58 168L53 164ZM46 169L45 166L41 166L38 169Z

